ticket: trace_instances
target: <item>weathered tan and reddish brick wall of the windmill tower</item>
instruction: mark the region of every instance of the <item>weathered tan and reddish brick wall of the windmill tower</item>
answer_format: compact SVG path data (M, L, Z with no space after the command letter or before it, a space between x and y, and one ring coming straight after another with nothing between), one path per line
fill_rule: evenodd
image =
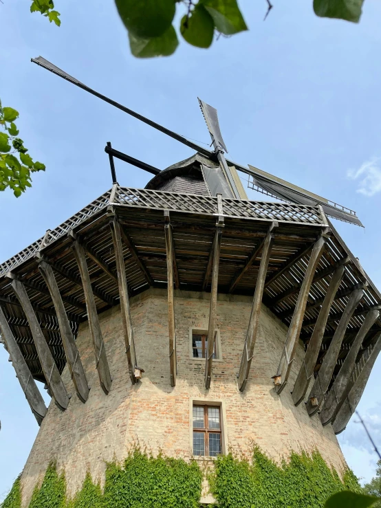
M172 456L191 456L190 400L222 400L226 413L228 446L243 454L250 442L279 460L290 450L317 448L327 463L338 470L345 466L330 425L318 416L309 418L302 403L295 407L290 388L304 355L298 346L288 386L274 392L276 373L287 328L262 307L259 336L250 378L244 393L237 388L237 373L248 327L251 298L220 295L217 328L221 335L222 362L213 364L210 390L204 388L204 362L190 359L189 328L208 329L209 294L175 292L177 335L177 385L169 382L169 349L166 291L150 289L131 299L138 365L142 382L131 385L119 307L100 315L113 382L109 395L99 386L94 352L87 323L80 326L78 349L89 386L89 399L80 402L65 368L63 380L72 393L69 407L61 412L50 404L22 474L23 503L27 504L48 463L65 468L69 495L80 489L89 470L104 481L105 461L122 461L134 442L149 445Z

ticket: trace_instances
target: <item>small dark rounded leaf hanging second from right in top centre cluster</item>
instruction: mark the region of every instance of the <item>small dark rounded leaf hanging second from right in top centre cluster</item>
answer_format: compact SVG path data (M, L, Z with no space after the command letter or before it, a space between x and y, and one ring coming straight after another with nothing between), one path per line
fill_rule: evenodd
M197 47L209 47L213 42L215 23L204 5L197 3L189 18L183 17L180 32L187 43Z

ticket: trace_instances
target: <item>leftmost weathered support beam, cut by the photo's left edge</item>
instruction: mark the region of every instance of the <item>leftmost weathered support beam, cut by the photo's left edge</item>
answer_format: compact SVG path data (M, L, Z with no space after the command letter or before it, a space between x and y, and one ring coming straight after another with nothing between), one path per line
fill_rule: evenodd
M14 338L12 330L10 329L7 318L1 306L0 331L3 341L6 345L6 349L10 354L13 368L16 371L17 379L19 379L19 383L23 389L23 393L25 394L34 417L36 417L37 423L41 425L43 417L45 417L47 413L47 407L45 406L45 402L43 401L40 390L37 388L36 382L32 377L32 373L30 372L29 367L25 362L23 353L20 351L19 344L17 344L16 339Z

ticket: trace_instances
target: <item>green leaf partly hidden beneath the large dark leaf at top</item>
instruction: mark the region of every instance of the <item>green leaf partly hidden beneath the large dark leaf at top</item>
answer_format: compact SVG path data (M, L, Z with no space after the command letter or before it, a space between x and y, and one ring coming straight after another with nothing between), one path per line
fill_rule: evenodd
M137 58L169 56L175 52L179 44L172 25L162 36L154 38L140 38L129 32L129 42L131 53Z

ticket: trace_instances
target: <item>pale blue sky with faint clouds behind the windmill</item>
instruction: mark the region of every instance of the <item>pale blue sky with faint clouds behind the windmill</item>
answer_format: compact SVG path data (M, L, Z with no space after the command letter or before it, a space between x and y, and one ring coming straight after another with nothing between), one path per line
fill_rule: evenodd
M360 25L318 19L312 1L243 0L250 31L208 51L182 43L170 58L136 60L112 1L56 0L61 28L28 1L0 4L0 97L21 113L20 136L47 166L33 188L0 195L0 261L111 187L107 141L158 168L192 151L30 63L40 54L87 85L200 142L209 142L197 96L217 107L233 160L252 164L358 212L365 229L338 223L381 289L381 3L365 0ZM117 164L120 184L149 175ZM243 181L243 184L246 184ZM249 195L253 199L254 194ZM37 426L0 349L0 500L21 472ZM381 446L381 359L359 410ZM357 423L340 435L349 465L369 480L375 455Z

